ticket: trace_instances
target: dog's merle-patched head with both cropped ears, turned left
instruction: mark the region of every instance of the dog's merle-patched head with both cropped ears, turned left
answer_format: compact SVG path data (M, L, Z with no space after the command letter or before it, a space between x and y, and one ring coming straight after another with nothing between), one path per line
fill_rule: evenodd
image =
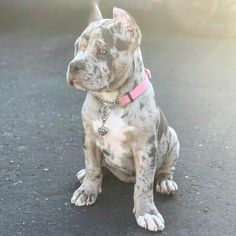
M113 9L113 19L103 19L95 5L93 18L75 42L67 81L81 90L111 91L121 86L133 69L133 54L141 43L141 33L122 9Z

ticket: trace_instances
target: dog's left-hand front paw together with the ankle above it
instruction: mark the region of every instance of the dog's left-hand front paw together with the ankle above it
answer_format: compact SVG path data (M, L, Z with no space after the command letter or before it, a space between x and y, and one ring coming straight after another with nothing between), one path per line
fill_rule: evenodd
M95 203L101 191L101 183L85 180L83 184L75 190L71 198L71 203L76 206L92 205Z

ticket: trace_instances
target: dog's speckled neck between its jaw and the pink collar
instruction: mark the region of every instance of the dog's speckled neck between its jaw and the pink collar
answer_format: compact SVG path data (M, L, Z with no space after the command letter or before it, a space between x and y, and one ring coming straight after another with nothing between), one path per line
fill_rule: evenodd
M118 97L124 96L127 92L132 91L141 81L143 80L144 75L144 65L142 59L142 53L138 47L134 52L134 63L129 71L124 75L123 84L109 92L99 92L93 94L97 97L100 97L102 100L114 102Z

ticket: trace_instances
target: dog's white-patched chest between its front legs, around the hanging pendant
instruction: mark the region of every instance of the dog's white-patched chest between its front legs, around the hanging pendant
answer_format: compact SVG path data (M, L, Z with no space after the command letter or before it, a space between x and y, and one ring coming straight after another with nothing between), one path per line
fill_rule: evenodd
M129 132L134 131L134 127L129 125L123 118L122 114L112 111L106 120L104 126L108 132L104 136L98 135L98 129L102 126L101 118L93 121L93 131L96 133L96 144L103 153L107 165L120 168L130 169L133 164L132 153L128 144Z

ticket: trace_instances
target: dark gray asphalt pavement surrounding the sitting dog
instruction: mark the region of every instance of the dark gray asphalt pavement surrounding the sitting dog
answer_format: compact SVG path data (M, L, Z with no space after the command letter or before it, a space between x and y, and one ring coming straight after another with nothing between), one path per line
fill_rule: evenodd
M133 184L107 176L95 205L70 204L84 167L85 93L66 84L77 30L0 32L0 235L154 235L135 222ZM236 40L157 30L144 63L180 139L175 196L155 193L163 236L236 232Z

